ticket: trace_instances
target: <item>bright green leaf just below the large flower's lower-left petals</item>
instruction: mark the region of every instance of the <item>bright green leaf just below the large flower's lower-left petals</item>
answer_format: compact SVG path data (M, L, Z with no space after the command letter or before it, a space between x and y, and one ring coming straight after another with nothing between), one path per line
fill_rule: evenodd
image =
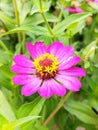
M20 109L18 110L18 117L25 117L25 116L31 116L31 115L39 115L43 104L45 102L44 98L36 98L34 101L30 103L23 104Z

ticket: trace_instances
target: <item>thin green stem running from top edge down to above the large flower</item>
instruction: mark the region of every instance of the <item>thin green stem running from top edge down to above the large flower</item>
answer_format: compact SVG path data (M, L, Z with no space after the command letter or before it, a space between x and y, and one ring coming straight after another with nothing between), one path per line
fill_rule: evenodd
M53 38L53 35L54 35L54 34L53 34L53 32L52 32L52 29L51 29L51 27L50 27L50 25L49 25L49 23L48 23L48 21L47 21L47 18L46 18L46 16L45 16L44 12L43 12L41 0L39 0L39 5L40 5L40 12L41 12L41 15L42 15L42 17L43 17L43 19L44 19L44 22L45 22L46 26L47 26L47 29L48 29L49 33L52 35L52 40L55 41L54 38Z

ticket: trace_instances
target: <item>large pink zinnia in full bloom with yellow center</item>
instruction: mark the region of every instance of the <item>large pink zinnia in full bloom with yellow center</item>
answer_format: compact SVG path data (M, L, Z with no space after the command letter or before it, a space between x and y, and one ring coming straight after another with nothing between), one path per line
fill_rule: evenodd
M76 92L81 88L77 76L85 76L85 70L75 65L81 61L74 56L74 48L54 42L46 47L43 42L34 45L27 43L32 59L24 55L14 57L15 65L11 66L17 75L14 84L23 85L22 95L30 96L38 92L40 96L49 98L53 94L63 96L66 89Z

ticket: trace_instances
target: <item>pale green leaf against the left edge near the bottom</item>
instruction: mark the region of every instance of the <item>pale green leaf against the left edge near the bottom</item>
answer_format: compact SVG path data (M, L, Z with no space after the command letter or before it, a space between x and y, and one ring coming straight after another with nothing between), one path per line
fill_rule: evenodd
M8 121L13 121L16 119L9 102L6 100L2 91L0 91L0 114L4 116Z

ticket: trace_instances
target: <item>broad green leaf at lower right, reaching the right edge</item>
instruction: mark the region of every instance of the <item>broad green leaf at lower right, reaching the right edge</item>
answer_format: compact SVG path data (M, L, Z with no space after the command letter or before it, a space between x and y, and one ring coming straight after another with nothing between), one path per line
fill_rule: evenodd
M78 119L87 124L98 124L98 116L92 111L91 107L83 102L70 101L64 108Z

